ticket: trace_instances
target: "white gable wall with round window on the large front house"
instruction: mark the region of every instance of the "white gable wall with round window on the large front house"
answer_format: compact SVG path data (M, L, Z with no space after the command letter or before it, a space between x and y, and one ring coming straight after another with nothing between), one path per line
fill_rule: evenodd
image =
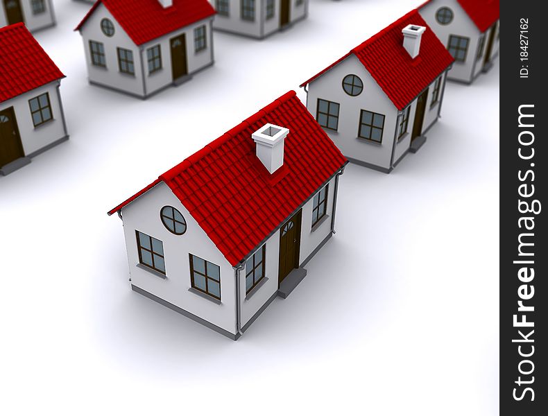
M165 205L175 207L185 217L187 221L185 234L177 236L164 227L160 220L160 210ZM131 283L230 333L236 333L234 268L169 187L164 182L157 184L137 200L126 205L121 212ZM166 265L165 279L149 272L146 268L137 267L139 254L136 229L162 241ZM191 288L189 253L221 268L221 304L189 291Z

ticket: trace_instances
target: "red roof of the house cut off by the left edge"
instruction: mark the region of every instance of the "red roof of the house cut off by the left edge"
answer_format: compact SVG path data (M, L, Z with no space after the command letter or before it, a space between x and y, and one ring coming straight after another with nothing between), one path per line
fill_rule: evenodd
M22 23L0 28L0 102L65 78Z

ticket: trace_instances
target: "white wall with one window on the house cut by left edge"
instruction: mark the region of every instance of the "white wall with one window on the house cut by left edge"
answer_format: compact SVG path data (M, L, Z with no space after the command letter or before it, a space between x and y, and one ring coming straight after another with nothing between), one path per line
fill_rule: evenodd
M63 114L59 103L57 85L58 81L54 81L53 83L43 85L11 100L0 103L0 111L13 107L25 155L30 155L44 146L65 137ZM49 94L53 120L35 128L28 100L46 92Z

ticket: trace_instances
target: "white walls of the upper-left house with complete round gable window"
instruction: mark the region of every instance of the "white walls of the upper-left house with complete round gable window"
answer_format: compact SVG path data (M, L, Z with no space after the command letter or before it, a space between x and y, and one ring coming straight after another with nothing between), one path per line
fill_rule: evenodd
M114 35L112 37L106 36L101 31L101 20L103 18L110 19L112 24L114 24ZM194 51L194 29L202 25L206 26L207 47L196 53ZM119 23L112 17L110 12L101 4L85 22L81 33L84 42L89 80L115 89L121 89L137 96L148 96L158 89L162 89L163 87L166 87L166 85L171 85L173 83L173 75L171 72L171 46L169 41L175 36L185 33L187 69L189 74L207 67L213 62L212 18L197 21L194 24L159 37L151 42L143 44L142 47L139 47L135 45L128 34L123 31ZM89 51L90 40L104 44L107 62L106 69L92 64L92 57ZM160 44L162 69L149 74L146 49L157 44ZM133 52L135 76L119 71L118 47L129 49Z

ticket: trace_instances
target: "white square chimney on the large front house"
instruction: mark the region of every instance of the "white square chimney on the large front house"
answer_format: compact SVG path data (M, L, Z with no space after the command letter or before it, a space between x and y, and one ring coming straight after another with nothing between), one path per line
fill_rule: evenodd
M251 135L257 144L257 157L270 173L284 164L284 140L288 134L289 129L268 123Z

